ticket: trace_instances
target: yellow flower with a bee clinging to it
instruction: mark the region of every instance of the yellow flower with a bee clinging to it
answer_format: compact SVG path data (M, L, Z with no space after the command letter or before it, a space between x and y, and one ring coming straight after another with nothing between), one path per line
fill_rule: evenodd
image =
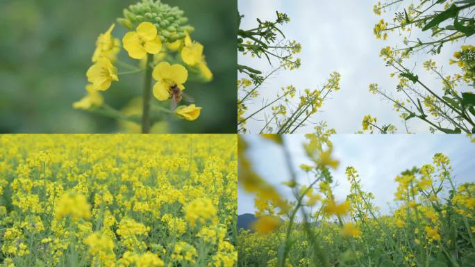
M182 65L170 65L168 62L161 62L153 69L153 79L156 79L153 86L153 95L160 101L165 101L172 97L170 88L178 86L181 90L185 89L183 83L188 79L188 70Z

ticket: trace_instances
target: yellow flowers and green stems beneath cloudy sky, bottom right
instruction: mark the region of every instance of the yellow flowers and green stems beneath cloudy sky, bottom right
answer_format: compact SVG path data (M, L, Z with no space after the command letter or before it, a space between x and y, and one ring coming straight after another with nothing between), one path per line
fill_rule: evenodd
M308 134L303 145L312 165L308 184L292 176L285 186L294 199L253 170L239 140L239 181L255 193L256 221L238 235L238 266L475 266L475 183L458 184L450 159L437 153L433 162L401 170L390 214L381 214L374 195L361 186L358 171L349 166L351 184L346 200L333 195L332 144L326 134ZM263 135L288 155L281 136ZM326 149L328 147L328 149Z

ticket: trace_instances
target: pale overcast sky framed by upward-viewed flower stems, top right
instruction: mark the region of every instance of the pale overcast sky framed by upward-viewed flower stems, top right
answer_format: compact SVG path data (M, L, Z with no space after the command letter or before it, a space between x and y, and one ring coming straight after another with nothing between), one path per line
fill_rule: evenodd
M302 60L300 69L272 76L260 89L261 96L251 104L249 111L256 111L263 106L263 99L275 99L276 90L282 86L292 84L302 91L305 88L321 88L329 74L337 71L342 75L341 90L324 103L321 112L313 116L313 122L325 120L338 133L355 133L361 129L363 116L371 114L378 118L378 123L392 123L403 132L403 123L398 113L392 110L392 104L368 91L369 83L378 83L380 88L395 92L398 81L389 76L394 69L385 67L385 63L379 58L379 51L388 45L394 47L401 44L398 33L391 33L387 41L374 38L374 24L381 19L372 12L374 3L376 0L239 0L240 13L245 15L241 29L254 28L257 24L256 17L273 21L278 10L287 13L291 19L290 23L282 27L283 33L288 40L297 40L302 44L302 52L298 54ZM390 10L385 21L390 21L395 11ZM412 33L411 40L420 36L420 33ZM444 65L444 73L451 74L457 70L455 65L448 64L448 60L459 47L460 43L446 44L441 54L433 56L433 60L439 65ZM238 55L240 64L265 72L271 70L267 60ZM414 72L430 88L440 89L440 80L422 69L422 63L428 57L420 54L412 59L407 61L406 67L414 67ZM260 113L256 118L262 120L263 115ZM247 129L256 133L262 126L263 122L249 120ZM312 129L308 125L300 129L300 132ZM419 120L410 120L410 131L428 133L428 125Z

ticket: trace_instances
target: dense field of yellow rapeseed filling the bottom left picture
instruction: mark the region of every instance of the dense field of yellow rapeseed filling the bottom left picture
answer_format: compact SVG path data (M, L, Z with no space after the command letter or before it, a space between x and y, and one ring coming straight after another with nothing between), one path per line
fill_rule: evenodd
M235 266L237 138L0 136L0 266Z

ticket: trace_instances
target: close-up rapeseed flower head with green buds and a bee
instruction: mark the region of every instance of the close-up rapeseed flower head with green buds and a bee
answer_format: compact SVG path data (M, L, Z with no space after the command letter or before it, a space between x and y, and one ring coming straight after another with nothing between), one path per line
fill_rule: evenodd
M172 102L171 110L163 112L185 120L197 120L201 107L191 104L194 102L192 97L182 98L185 95L182 92L185 90L183 83L188 80L188 76L195 81L211 81L213 72L206 63L203 44L192 40L190 36L194 28L188 24L183 11L160 0L142 0L124 9L124 17L117 19L117 22L128 32L122 42L113 35L115 24L99 34L92 65L86 72L89 82L86 86L87 95L75 102L73 107L124 120L127 114L119 115L121 111L107 106L100 92L109 90L124 75L143 72L144 85L138 85L138 94L142 93L142 87L145 86L147 90L143 93L149 99L153 86L156 100L165 102L170 99ZM119 59L122 48L129 58L137 60L135 64ZM152 76L156 82L149 84ZM190 104L177 105L181 99ZM144 114L140 115L149 116L149 102L142 103Z

